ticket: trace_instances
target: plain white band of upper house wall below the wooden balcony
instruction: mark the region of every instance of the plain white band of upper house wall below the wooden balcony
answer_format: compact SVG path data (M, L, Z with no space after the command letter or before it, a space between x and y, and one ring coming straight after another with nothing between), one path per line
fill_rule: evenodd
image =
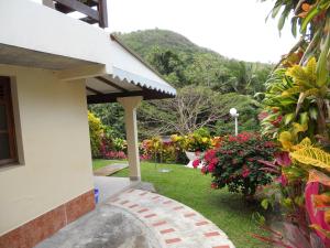
M105 64L109 34L30 0L0 1L0 43Z

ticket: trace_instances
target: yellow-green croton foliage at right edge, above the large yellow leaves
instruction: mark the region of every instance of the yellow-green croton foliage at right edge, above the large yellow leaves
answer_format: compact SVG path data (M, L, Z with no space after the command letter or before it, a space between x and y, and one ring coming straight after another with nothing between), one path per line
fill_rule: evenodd
M264 132L278 133L288 129L295 121L304 126L305 136L322 138L327 141L329 129L329 88L328 82L319 83L317 62L311 57L306 66L294 65L274 72L267 82L263 104L266 115L262 126ZM314 139L314 137L312 137Z

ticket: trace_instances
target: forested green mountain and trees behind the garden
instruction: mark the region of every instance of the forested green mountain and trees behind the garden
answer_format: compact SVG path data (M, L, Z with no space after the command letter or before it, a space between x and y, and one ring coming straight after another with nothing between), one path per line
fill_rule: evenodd
M253 95L265 90L272 65L230 60L166 30L116 34L178 90L175 100L143 103L138 115L141 139L184 134L199 127L209 128L212 134L228 133L232 130L228 116L231 107L241 114L241 130L258 129L258 104ZM182 107L185 114L177 111ZM118 105L96 105L90 109L118 136L123 134L123 112ZM193 112L195 122L189 119Z

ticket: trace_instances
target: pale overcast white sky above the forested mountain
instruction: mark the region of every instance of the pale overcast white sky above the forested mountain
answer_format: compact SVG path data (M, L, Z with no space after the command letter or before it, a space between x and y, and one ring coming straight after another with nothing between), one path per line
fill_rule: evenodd
M40 0L34 0L40 1ZM267 0L108 0L110 32L165 29L230 58L276 63L296 40L287 24L265 19Z

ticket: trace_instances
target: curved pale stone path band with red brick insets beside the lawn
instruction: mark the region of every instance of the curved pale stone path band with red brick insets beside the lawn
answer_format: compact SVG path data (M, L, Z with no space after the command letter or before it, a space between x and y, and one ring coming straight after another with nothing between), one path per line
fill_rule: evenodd
M227 235L209 219L165 196L129 190L106 204L121 207L143 222L161 247L234 248Z

